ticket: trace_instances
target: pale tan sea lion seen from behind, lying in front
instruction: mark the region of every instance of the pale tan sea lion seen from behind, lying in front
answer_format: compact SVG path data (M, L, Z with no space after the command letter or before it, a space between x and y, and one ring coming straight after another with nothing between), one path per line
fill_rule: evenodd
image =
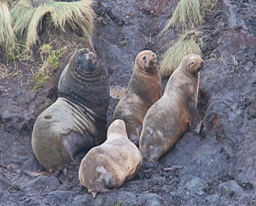
M95 198L98 192L131 180L141 164L141 153L128 139L124 121L116 119L108 128L107 140L93 147L82 159L79 180Z

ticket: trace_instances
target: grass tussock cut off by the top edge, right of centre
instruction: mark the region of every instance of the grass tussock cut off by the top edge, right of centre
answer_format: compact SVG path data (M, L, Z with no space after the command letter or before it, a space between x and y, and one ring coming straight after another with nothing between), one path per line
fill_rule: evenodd
M186 28L202 23L205 14L211 12L216 4L217 0L180 0L171 19L161 33L163 34L171 26Z

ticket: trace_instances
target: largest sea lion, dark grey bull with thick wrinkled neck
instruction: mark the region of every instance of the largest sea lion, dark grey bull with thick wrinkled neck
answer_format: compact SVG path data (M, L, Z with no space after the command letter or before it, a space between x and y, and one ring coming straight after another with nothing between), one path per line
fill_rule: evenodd
M58 99L36 119L32 149L47 170L61 169L106 140L108 77L94 53L77 50L62 71Z

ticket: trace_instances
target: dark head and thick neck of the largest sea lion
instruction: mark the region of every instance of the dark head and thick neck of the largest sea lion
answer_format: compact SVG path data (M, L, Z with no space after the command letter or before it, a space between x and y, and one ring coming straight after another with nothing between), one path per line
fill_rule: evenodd
M79 60L80 59L80 60ZM106 111L109 104L109 84L106 71L97 63L95 71L87 73L90 62L96 62L96 56L88 49L79 49L69 64L64 68L59 84L58 95L82 105L100 115L100 119L107 119ZM75 66L74 66L75 65ZM106 93L105 93L106 91ZM101 97L101 101L97 99Z

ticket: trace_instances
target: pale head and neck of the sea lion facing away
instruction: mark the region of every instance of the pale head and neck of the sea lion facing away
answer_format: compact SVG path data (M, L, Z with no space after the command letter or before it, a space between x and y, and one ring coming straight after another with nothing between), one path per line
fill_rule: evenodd
M112 136L116 136L116 134L120 137L128 138L125 122L122 119L116 119L109 125L107 139L111 138Z

